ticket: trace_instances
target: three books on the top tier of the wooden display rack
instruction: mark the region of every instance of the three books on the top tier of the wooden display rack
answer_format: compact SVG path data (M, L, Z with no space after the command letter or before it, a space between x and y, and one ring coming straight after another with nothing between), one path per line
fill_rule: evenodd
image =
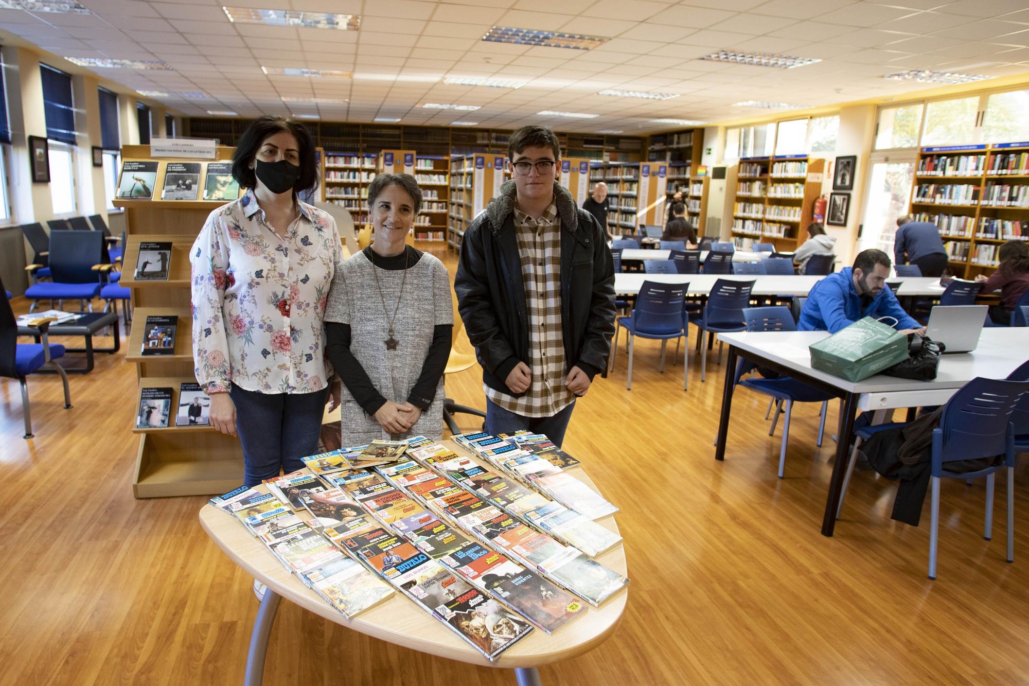
M162 200L222 200L240 197L240 184L233 178L232 162L159 162L125 160L115 198L152 200L158 168L165 166ZM203 176L204 181L201 182ZM203 193L202 193L203 191Z

